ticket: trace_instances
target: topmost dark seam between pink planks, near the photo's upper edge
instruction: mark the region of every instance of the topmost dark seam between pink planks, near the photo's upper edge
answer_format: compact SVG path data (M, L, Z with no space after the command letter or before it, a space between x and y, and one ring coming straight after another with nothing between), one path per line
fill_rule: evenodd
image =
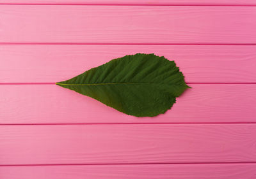
M59 5L59 6L238 6L250 7L256 4L95 4L95 3L0 3L0 5Z

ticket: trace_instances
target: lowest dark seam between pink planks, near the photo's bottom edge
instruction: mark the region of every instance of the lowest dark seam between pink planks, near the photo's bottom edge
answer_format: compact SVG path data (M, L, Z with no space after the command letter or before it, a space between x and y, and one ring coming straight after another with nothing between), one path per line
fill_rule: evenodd
M188 163L113 163L113 164L0 164L1 166L109 166L109 165L166 165L166 164L256 164L256 162L188 162Z

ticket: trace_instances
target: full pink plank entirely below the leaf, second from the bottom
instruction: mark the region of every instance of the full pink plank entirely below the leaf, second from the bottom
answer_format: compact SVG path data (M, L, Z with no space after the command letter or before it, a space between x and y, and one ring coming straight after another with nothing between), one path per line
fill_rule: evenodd
M256 162L255 124L1 125L1 165Z

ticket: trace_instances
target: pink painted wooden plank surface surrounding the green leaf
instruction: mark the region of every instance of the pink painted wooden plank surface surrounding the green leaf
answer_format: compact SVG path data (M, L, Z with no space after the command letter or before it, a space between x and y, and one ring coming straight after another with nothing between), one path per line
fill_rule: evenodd
M136 118L55 82L126 54L192 89ZM1 179L255 179L256 0L2 0Z

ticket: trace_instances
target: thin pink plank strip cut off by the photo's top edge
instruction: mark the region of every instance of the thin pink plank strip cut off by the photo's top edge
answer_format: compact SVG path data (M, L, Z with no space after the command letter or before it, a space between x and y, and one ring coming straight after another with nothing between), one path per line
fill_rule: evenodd
M1 4L124 4L124 5L237 5L253 6L255 0L1 0Z

